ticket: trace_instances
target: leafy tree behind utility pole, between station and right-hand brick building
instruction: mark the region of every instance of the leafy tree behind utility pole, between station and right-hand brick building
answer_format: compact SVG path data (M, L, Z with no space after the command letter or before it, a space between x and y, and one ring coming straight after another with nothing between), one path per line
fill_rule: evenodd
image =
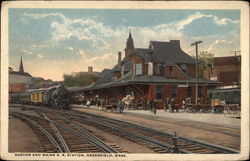
M213 57L214 55L207 51L201 51L200 54L198 54L198 70L199 70L198 76L199 77L203 77L204 70L212 67ZM193 56L193 58L196 59L195 56Z

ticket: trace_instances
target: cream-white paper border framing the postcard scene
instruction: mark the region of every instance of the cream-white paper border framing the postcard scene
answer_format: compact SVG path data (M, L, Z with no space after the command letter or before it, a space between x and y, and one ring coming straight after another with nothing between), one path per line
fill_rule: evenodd
M38 7L39 6L39 7ZM240 154L126 154L119 160L245 160L249 155L249 6L243 1L6 1L1 10L1 157L8 160L83 160L66 157L15 157L8 153L8 9L105 8L105 9L239 9L241 11L242 118ZM117 160L117 158L86 158Z

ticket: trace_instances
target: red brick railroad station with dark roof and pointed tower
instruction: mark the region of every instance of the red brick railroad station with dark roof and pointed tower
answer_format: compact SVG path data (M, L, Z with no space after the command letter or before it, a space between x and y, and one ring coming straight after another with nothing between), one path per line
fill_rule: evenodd
M179 105L187 97L195 103L196 62L181 49L180 40L150 41L148 48L136 48L130 32L124 50L124 58L118 52L117 64L112 69L104 69L95 84L71 91L113 101L133 93L135 99L156 100L157 108L163 108L171 98ZM207 89L221 82L199 78L198 84L198 98L205 104Z

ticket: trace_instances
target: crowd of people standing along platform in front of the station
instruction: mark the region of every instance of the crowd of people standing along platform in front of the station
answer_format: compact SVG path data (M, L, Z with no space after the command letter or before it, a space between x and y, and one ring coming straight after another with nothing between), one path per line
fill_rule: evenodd
M201 99L198 99L201 104ZM187 97L182 100L181 104L176 104L176 98L167 98L166 100L150 99L147 97L135 98L134 95L127 95L121 100L116 100L115 98L101 98L96 95L92 98L81 98L80 104L90 106L95 105L97 107L116 110L122 113L125 109L133 110L140 109L145 111L150 111L156 114L159 106L163 104L163 109L166 112L179 112L179 110L187 110L191 105L191 98Z

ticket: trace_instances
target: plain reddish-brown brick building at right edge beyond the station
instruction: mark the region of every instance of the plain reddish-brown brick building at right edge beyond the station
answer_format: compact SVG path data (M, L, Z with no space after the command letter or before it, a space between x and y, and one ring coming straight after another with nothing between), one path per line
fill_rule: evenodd
M203 72L204 78L223 82L224 85L241 84L241 56L214 57L213 66Z

